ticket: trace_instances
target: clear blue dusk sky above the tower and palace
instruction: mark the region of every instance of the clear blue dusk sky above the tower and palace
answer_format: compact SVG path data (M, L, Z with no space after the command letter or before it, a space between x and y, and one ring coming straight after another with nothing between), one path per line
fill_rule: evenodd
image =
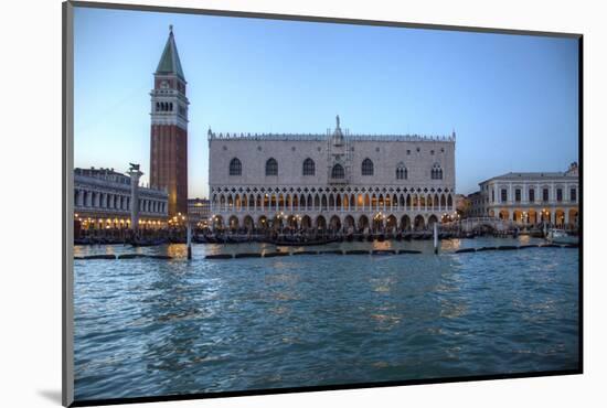
M450 135L456 191L578 160L577 40L75 8L75 167L149 172L150 90L173 33L188 80L189 196L206 132ZM148 182L147 174L141 179Z

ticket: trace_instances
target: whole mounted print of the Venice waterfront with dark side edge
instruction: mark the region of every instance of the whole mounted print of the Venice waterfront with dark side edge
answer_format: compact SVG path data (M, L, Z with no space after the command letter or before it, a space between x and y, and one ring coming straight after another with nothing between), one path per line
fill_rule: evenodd
M64 404L582 373L582 36L71 2Z

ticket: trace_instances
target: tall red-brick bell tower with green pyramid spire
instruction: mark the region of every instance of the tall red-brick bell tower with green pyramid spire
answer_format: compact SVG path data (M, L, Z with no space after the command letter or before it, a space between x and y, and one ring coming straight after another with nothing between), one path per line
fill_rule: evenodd
M150 185L167 189L169 216L188 213L188 98L170 26L151 90Z

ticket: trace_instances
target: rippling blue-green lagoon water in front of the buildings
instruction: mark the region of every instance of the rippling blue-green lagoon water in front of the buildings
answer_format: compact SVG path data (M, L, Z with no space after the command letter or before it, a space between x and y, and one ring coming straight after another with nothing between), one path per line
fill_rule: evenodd
M77 247L77 400L575 369L578 249L204 260L271 245ZM290 248L290 250L311 248Z

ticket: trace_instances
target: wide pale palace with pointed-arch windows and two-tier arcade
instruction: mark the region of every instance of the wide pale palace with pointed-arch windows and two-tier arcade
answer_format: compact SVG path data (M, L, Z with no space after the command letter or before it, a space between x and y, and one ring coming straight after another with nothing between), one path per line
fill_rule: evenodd
M418 135L209 129L215 228L424 229L455 212L455 142Z

